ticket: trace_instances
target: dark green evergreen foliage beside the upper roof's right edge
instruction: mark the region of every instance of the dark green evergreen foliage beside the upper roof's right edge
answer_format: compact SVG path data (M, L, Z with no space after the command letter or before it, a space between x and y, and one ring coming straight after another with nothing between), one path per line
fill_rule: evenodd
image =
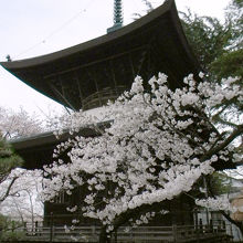
M243 0L232 0L224 23L190 10L181 17L189 44L212 81L243 76Z

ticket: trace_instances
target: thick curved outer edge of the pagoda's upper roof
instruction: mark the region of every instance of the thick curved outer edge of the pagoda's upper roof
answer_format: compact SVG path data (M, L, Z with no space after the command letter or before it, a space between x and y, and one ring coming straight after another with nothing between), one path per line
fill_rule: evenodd
M107 45L113 41L116 41L127 34L130 34L131 32L145 27L146 24L150 23L151 21L156 20L157 18L160 18L165 13L170 12L173 17L173 21L176 24L176 29L181 32L180 30L180 23L179 19L177 17L177 9L173 0L167 0L162 6L151 11L149 14L140 18L139 20L120 28L114 32L107 33L105 35L102 35L99 38L93 39L91 41L84 42L78 45L74 45L68 49L64 49L59 52L54 52L46 55L41 55L32 59L25 59L20 61L13 61L13 62L0 62L0 64L9 70L18 70L18 68L29 68L32 66L38 66L46 63L51 63L53 61L65 59L72 54L86 52L88 50L93 50L94 47L97 47L98 45ZM181 39L184 39L183 34L179 33ZM184 43L186 40L181 40L182 43ZM187 45L186 45L187 46Z

